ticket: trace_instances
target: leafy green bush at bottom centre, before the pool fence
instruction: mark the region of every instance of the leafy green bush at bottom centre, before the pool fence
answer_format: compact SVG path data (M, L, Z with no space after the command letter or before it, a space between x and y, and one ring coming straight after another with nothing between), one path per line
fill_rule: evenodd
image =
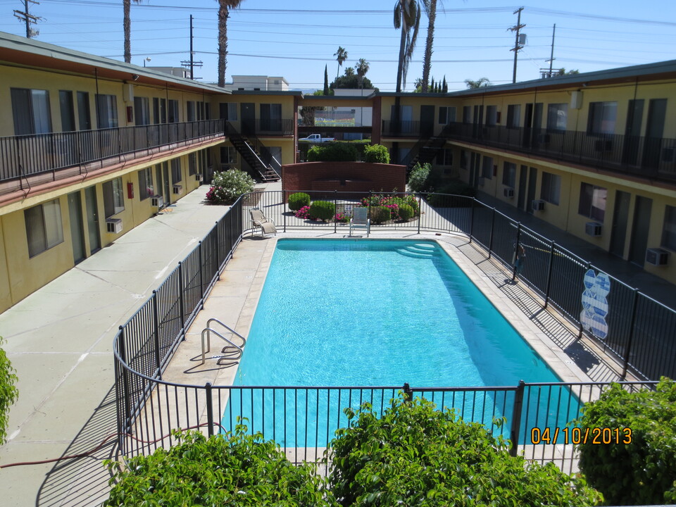
M600 495L553 463L526 463L478 423L425 399L382 416L347 408L332 447L332 492L343 506L591 506Z

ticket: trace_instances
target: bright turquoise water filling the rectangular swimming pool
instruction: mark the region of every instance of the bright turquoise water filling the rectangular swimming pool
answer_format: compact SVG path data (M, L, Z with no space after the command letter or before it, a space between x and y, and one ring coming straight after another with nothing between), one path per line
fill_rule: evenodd
M280 239L234 384L483 387L519 380L560 382L435 242ZM372 401L382 408L393 394L234 390L223 425L242 415L282 445L310 445L310 433L312 446L322 446L345 425L344 406ZM442 404L490 424L511 416L513 392L450 399ZM539 413L537 401L530 410ZM553 414L548 425L565 423L556 407L542 412Z

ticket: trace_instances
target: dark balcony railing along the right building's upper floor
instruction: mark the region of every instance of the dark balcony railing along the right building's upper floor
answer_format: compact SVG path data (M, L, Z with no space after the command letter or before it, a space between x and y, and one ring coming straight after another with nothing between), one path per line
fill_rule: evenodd
M466 123L451 124L449 139L466 139L656 180L676 180L676 139Z

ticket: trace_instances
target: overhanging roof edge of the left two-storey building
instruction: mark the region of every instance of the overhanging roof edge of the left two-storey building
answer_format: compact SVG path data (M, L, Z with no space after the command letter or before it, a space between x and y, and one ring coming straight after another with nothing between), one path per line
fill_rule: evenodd
M34 61L16 61L11 58L13 52L30 54L37 58L35 58ZM195 88L200 91L220 92L223 94L229 93L227 90L213 84L204 84L184 77L161 73L158 70L151 70L139 65L133 65L132 63L113 60L113 58L95 56L89 53L83 53L82 51L75 51L62 46L56 46L55 44L0 32L0 61L8 61L26 67L42 68L48 66L44 64L44 58L49 58L50 61L52 61L52 65L49 65L50 68L65 69L73 73L89 75L88 68L97 68L99 70L108 71L108 75L104 77L118 77L122 80L132 81L132 76L138 75L139 77L144 78L139 84L144 81L161 81L173 83L182 88ZM43 61L39 61L41 59ZM63 62L64 64L58 65L58 62ZM126 77L125 74L127 75Z

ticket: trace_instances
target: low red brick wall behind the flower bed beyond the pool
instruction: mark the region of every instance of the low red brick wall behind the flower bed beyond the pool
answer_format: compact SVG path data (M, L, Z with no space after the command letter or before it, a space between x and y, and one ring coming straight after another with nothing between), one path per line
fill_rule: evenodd
M365 162L304 162L282 165L282 187L307 192L404 192L406 165Z

